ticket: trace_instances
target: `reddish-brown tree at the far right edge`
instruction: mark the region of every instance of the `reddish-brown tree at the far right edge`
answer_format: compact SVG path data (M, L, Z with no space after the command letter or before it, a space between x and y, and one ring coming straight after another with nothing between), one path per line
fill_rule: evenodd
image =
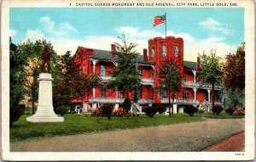
M228 54L224 64L224 87L244 90L245 87L245 50L237 47L236 54Z

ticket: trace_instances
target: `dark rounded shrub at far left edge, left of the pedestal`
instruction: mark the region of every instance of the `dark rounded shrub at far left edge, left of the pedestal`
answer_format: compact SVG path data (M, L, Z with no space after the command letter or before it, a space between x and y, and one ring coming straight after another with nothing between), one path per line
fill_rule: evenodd
M9 126L12 126L15 121L20 119L26 109L25 104L18 104L14 108L9 109Z

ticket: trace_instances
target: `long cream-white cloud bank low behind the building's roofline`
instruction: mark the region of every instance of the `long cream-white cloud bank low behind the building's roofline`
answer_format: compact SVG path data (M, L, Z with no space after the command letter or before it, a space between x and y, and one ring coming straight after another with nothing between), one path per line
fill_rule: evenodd
M125 31L125 37L127 42L137 42L138 46L135 48L138 53L143 53L143 48L148 48L148 40L155 36L165 37L164 33L158 31L139 31L137 28L125 26L116 28L121 34ZM227 44L224 42L223 37L208 37L207 39L198 39L195 36L189 35L189 33L176 33L174 31L167 31L167 36L182 37L184 42L184 60L196 61L198 53L210 54L213 49L217 50L217 55L224 58L228 53L236 52L236 45ZM111 44L113 42L119 42L117 36L84 36L79 39L68 39L58 37L46 37L42 31L39 30L27 30L26 39L30 38L32 41L37 39L49 40L58 54L64 54L67 51L75 53L79 46L96 48L103 50L111 50Z

